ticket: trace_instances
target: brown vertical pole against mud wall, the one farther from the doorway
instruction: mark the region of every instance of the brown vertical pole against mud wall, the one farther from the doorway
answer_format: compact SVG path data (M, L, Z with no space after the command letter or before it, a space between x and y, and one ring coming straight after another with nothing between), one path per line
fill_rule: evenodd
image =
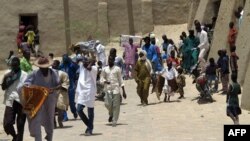
M132 0L127 0L128 7L128 24L129 24L129 34L135 35L135 27L134 27L134 16L133 16L133 4Z

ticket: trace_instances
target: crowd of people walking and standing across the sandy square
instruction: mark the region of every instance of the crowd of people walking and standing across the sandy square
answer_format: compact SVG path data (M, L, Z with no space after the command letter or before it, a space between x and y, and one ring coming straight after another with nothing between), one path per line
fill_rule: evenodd
M215 18L212 24L214 22ZM17 45L23 57L19 59L15 57L13 51L10 52L6 60L10 70L4 75L1 85L5 90L5 132L13 137L13 141L22 141L27 118L30 135L35 141L42 140L41 126L45 127L45 139L52 141L53 129L58 127L57 122L59 127L63 127L63 122L68 120L69 106L73 117L76 119L79 116L86 125L85 133L92 135L96 99L104 100L109 114L108 122L115 127L122 98L127 98L124 80L135 80L142 105L149 104L151 84L153 85L151 93L155 92L159 100L161 93L165 94L164 102L171 101L170 97L175 93L179 93L179 99L183 99L186 86L185 74L191 73L192 67L196 64L199 64L201 74L205 74L210 84L215 82L214 92L218 92L219 78L221 79L222 93L227 94L227 115L238 124L241 110L237 94L240 94L241 90L237 83L239 57L236 54L237 30L234 23L229 24L230 57L226 50L219 50L217 63L214 58L206 61L211 43L209 36L214 26L210 26L211 28L202 26L197 20L194 25L195 30L189 30L189 35L185 32L180 35L178 46L167 35L162 35L161 45L153 33L142 38L138 44L133 42L131 36L128 42L121 45L124 48L122 57L117 56L115 48L111 48L106 58L105 47L100 41L95 41L94 53L83 51L81 43L78 43L73 47L75 53L73 57L64 54L60 62L53 58L53 53L50 53L49 57L38 57L34 65L39 69L33 70L30 55L32 52L37 53L39 48L38 30L34 32L32 26L25 27L21 24ZM229 85L230 68L232 84ZM35 117L26 116L22 109L25 102L21 97L22 87L32 85L46 87L49 92ZM83 112L85 107L87 115ZM14 129L16 117L17 132Z

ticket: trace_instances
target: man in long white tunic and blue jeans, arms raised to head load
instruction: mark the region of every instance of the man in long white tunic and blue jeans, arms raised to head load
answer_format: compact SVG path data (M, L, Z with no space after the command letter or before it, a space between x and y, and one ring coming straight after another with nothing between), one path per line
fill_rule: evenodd
M81 120L87 126L86 135L92 135L94 122L94 102L96 94L97 67L89 58L83 58L83 64L80 63L80 75L76 88L77 113ZM83 109L88 108L88 117Z

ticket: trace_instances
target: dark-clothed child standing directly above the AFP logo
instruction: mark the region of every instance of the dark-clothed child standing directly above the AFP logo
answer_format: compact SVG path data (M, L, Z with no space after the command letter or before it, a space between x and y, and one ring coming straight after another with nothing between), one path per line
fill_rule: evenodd
M241 94L241 88L237 82L236 74L231 75L232 84L229 86L227 93L227 116L229 116L234 124L239 124L239 115L241 114L241 109L239 106L238 94Z

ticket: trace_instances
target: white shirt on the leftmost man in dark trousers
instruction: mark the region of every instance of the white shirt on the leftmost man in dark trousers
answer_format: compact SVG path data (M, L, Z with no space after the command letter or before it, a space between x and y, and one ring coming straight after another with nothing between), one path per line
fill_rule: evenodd
M5 73L5 75L9 72L10 70L8 70ZM18 90L21 90L21 87L24 85L24 81L26 80L26 78L27 78L27 73L24 71L21 71L20 78L17 79L14 83L12 83L9 86L9 88L6 89L4 93L4 101L3 101L3 103L6 106L12 107L14 101L20 103L21 92Z

